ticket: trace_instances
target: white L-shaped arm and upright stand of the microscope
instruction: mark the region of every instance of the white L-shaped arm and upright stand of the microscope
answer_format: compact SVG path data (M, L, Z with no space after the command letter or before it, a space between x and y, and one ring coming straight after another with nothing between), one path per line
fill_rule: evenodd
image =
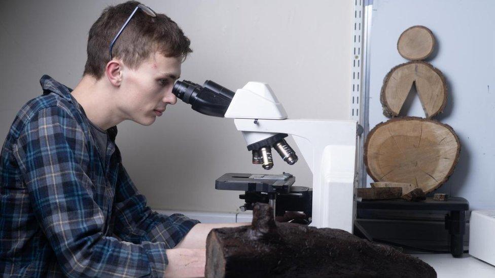
M356 121L236 118L234 124L242 132L292 135L313 174L311 225L352 232Z

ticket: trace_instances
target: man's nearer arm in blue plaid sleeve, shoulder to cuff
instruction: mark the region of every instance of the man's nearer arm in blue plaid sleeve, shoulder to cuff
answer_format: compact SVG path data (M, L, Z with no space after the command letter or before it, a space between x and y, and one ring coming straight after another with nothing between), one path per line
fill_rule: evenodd
M92 198L85 134L60 107L34 115L14 153L30 206L67 276L163 276L165 243L140 245L105 236L104 214ZM87 161L86 161L87 162Z

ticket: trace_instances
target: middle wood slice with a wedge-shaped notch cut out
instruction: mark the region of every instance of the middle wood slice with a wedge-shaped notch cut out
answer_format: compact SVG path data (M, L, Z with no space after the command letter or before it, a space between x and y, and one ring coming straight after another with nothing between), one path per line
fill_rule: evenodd
M380 93L385 116L399 115L413 85L427 118L443 111L447 84L442 72L427 62L411 61L394 67L385 76Z

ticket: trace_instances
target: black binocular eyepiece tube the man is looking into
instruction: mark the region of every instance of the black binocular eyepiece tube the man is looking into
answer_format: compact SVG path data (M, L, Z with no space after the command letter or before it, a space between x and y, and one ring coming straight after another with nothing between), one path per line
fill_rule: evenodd
M203 86L190 81L177 81L172 93L187 104L191 104L193 110L205 115L223 117L234 92L218 85L213 81L205 81Z

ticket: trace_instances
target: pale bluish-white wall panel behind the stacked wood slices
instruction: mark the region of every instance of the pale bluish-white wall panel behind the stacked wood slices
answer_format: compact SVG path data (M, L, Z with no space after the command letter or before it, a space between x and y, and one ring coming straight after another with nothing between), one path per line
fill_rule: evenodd
M427 26L437 41L437 53L428 62L442 71L448 85L444 113L434 119L450 125L462 147L454 173L435 192L465 197L472 210L495 209L494 9L491 0L373 2L370 129L388 120L379 97L383 77L407 62L397 52L400 34L413 25ZM417 95L408 115L425 117Z

